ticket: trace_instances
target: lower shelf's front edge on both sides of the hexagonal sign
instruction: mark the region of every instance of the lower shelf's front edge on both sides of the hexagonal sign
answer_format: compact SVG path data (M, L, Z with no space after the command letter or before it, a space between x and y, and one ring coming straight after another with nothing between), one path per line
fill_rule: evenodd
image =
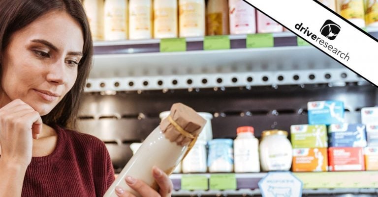
M260 195L258 181L267 173L236 173L237 190L181 190L183 174L170 176L173 196ZM378 172L300 172L293 173L303 182L303 194L378 194ZM210 173L193 174L210 177Z

